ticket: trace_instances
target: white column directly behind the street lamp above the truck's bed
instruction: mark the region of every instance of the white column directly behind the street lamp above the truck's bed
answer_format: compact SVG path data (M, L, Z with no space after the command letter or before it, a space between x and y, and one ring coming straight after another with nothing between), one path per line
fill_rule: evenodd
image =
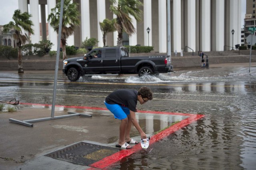
M145 1L144 1L145 2ZM144 3L144 45L152 46L152 11L151 11L151 0L147 0ZM148 34L147 28L150 28L150 32ZM149 39L149 41L148 41Z

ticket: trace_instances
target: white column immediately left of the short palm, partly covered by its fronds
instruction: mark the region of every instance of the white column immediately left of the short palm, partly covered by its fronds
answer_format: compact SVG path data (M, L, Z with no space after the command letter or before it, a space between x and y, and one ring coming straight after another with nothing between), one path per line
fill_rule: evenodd
M106 18L105 0L97 0L97 26L98 26L98 47L103 47L103 34L100 30L100 22Z

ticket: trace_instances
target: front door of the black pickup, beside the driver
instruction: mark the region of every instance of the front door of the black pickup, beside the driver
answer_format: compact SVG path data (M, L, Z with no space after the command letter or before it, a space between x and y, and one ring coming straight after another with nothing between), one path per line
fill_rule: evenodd
M103 56L101 57L94 57L95 55L98 55L99 49L96 49L88 54L87 60L84 63L84 71L85 74L87 73L103 73Z

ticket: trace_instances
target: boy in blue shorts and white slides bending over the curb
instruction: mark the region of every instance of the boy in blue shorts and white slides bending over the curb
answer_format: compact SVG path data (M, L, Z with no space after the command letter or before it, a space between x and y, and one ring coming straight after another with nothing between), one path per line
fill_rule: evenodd
M139 91L119 89L106 97L104 103L107 109L114 114L115 119L121 120L119 140L116 147L130 149L132 146L129 144L138 144L138 142L130 138L132 124L138 130L142 139L147 138L135 118L135 113L138 111L136 105L138 101L142 105L152 99L152 92L147 87L141 87Z

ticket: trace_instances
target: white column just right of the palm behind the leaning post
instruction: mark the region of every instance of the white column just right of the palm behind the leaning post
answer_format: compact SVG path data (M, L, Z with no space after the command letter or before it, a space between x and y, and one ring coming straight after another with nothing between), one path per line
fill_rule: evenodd
M90 38L90 4L89 0L81 0L82 42Z

